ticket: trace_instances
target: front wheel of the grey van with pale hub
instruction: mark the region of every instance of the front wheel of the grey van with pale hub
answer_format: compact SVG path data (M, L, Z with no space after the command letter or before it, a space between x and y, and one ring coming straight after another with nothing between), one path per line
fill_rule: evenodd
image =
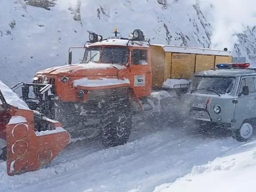
M240 129L234 130L233 138L239 142L247 141L252 138L254 127L251 123L243 123Z

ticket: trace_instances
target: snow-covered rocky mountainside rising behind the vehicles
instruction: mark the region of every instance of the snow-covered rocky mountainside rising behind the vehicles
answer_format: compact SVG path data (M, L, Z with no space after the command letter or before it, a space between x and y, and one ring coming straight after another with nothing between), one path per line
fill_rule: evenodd
M67 63L68 47L83 45L88 30L108 37L118 27L127 37L140 28L153 43L211 47L213 9L193 0L2 0L0 78L8 85L31 81L37 70ZM254 35L238 36L237 53L254 61Z

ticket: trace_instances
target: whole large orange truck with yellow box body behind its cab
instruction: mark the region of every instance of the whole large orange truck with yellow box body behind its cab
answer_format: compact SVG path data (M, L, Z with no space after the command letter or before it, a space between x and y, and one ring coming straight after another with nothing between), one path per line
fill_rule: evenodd
M62 122L71 137L100 135L106 146L129 139L134 111L161 111L186 91L196 72L231 62L229 51L151 45L141 30L130 38L90 33L81 63L38 71L21 83L30 109ZM179 96L179 95L178 95ZM164 102L170 101L170 102Z

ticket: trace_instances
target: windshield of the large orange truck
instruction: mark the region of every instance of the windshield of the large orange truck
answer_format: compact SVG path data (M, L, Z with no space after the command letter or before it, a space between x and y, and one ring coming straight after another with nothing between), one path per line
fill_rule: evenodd
M129 61L127 47L89 47L85 50L82 63L116 63L126 64Z

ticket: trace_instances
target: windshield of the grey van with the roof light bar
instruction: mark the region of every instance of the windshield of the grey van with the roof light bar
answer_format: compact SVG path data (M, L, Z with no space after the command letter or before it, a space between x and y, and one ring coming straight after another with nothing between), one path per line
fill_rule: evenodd
M229 94L233 91L234 77L201 77L195 76L190 86L190 92Z

